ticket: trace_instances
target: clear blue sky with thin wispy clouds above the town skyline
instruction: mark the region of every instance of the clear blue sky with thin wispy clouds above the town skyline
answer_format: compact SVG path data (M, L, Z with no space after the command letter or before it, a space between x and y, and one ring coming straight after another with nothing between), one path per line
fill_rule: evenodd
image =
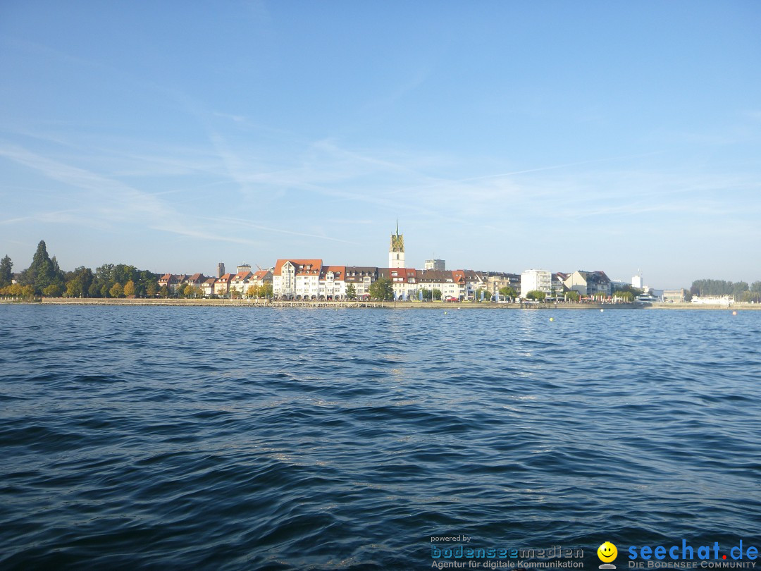
M761 279L759 2L0 4L0 255Z

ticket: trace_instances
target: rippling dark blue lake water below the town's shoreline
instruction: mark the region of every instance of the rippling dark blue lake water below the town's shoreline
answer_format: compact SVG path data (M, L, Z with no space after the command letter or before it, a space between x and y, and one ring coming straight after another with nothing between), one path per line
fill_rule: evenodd
M0 330L3 569L761 547L761 311L5 305Z

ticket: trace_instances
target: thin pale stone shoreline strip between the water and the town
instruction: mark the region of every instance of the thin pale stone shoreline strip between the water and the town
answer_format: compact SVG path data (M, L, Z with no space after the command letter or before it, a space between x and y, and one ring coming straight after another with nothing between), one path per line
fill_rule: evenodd
M322 308L322 309L501 309L501 310L591 310L591 309L660 309L699 311L753 311L761 310L761 304L735 303L727 305L692 303L655 303L639 305L628 303L559 303L559 304L505 304L494 301L476 303L473 301L261 301L246 299L118 299L118 298L41 298L35 301L0 299L0 304L23 305L119 305L127 307L235 307L235 308Z

